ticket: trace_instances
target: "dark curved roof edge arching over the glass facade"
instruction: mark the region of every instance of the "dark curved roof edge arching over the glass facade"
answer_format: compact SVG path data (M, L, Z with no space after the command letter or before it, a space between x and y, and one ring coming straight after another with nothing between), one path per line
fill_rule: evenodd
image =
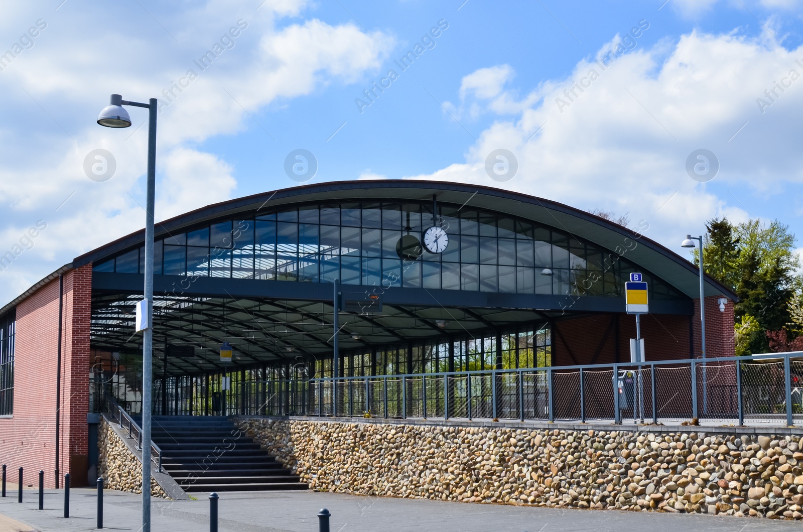
M681 293L691 298L699 297L699 270L695 265L644 235L563 203L488 186L452 182L387 179L324 182L272 190L214 203L157 223L156 238L181 232L199 223L245 213L267 212L268 209L296 203L381 199L430 201L433 195L437 196L439 203L481 207L514 215L577 235L580 239L612 252L619 251L630 262L654 273ZM90 262L96 263L118 252L140 246L144 239L144 230L134 232L76 257L72 265L77 268ZM709 276L705 277L705 294L724 294L737 300L736 294Z

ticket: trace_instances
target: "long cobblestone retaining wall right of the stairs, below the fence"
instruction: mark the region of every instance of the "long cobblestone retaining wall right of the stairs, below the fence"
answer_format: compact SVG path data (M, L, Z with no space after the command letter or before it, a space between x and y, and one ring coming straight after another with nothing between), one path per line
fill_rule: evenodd
M800 436L237 419L311 489L803 518ZM705 430L706 432L702 432Z

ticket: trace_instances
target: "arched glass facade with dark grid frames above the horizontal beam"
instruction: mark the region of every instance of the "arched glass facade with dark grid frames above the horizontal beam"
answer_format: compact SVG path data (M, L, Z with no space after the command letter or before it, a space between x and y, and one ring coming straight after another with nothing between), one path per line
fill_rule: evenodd
M430 253L437 225L448 245ZM332 203L284 208L196 227L155 243L154 272L289 282L622 297L635 268L552 227L491 211L432 203ZM144 248L97 272L144 271ZM547 275L552 272L552 275ZM680 294L649 274L652 299Z

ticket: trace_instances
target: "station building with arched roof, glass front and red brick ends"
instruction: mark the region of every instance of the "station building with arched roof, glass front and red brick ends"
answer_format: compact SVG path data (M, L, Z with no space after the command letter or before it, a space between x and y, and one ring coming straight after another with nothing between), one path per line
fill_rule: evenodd
M144 239L77 256L0 308L0 460L31 479L86 483L101 389L141 411ZM282 413L273 383L331 377L335 349L342 376L627 362L631 272L649 288L646 360L698 357L695 264L548 199L377 180L203 207L156 227L154 413ZM708 277L704 291L707 357L732 356L736 296Z

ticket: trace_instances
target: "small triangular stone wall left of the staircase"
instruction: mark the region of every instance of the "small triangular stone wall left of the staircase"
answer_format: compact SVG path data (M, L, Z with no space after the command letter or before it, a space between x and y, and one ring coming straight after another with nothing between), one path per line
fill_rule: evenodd
M100 416L98 424L98 476L105 489L142 493L142 463L117 436L108 421ZM169 498L165 490L151 478L151 495Z

